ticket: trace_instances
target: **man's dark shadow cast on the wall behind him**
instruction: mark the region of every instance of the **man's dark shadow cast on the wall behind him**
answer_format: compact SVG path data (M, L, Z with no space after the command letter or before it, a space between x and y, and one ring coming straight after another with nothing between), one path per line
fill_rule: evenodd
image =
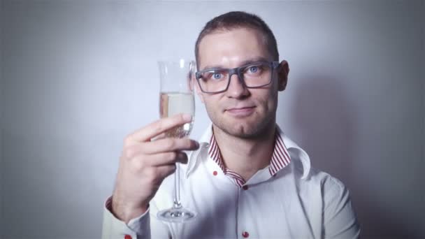
M298 81L298 80L297 80ZM299 80L291 108L293 125L312 166L340 179L350 189L361 238L415 238L396 222L391 208L374 200L376 190L356 175L356 108L336 78L315 75ZM356 154L359 155L359 154Z

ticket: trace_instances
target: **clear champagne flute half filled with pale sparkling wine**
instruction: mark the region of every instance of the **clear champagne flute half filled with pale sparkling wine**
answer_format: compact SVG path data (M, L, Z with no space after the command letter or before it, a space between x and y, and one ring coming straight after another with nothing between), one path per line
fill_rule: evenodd
M192 122L177 126L166 132L166 137L184 138L192 131L195 113L193 92L194 61L159 61L160 93L159 114L161 118L185 113L192 115ZM196 216L195 212L183 208L180 202L180 164L175 164L173 207L160 210L157 217L166 222L185 222Z

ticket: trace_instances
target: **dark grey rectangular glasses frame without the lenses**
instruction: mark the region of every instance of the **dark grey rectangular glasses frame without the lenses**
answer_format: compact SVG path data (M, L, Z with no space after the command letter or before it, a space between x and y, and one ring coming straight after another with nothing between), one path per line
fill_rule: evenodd
M270 66L270 68L271 68L271 79L270 79L270 81L267 84L259 85L259 86L256 86L256 87L247 86L246 83L245 83L245 79L243 78L243 75L242 75L242 70L247 68L248 66L252 66L252 65L255 65L255 64L265 64L265 63L268 64L268 66ZM270 85L271 82L273 82L273 73L274 73L275 68L278 68L279 64L280 64L279 61L254 61L250 64L245 64L243 66L239 66L239 67L236 67L236 68L208 68L208 69L205 69L205 70L202 70L202 71L196 71L195 78L196 78L196 81L198 82L199 89L201 89L201 92L207 93L207 94L217 94L217 93L226 92L226 90L229 89L230 78L231 78L232 75L238 75L238 78L239 78L240 82L242 83L243 87L246 87L247 89L256 89L256 88L261 88L261 87L265 87L267 85ZM223 90L220 90L218 92L206 92L206 91L204 91L202 89L201 82L199 82L199 80L202 78L201 74L208 72L208 71L227 71L229 73L229 79L227 80L226 88L224 88Z

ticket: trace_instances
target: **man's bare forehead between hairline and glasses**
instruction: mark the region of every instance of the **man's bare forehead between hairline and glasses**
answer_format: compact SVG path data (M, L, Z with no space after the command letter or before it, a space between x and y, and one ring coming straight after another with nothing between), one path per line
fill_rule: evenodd
M213 31L199 43L199 69L233 68L251 59L271 59L266 38L256 29Z

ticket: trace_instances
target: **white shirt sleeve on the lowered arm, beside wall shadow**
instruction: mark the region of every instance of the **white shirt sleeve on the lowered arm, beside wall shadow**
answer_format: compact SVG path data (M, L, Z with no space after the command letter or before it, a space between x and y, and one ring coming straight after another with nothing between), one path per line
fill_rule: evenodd
M330 178L324 183L324 238L359 238L350 192L342 182Z

